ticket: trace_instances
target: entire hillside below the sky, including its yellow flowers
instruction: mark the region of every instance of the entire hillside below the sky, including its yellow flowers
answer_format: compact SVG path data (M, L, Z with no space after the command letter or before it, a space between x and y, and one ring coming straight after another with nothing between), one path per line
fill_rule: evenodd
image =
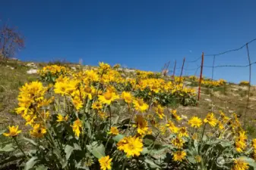
M129 163L122 167L189 169L186 164L177 164L188 154L190 169L210 163L214 169L223 169L213 164L211 155L204 158L205 153L212 152L214 159L221 157L215 152L225 156L223 150L232 150L231 156L251 156L251 140L256 136L256 90L251 86L248 98L247 82L235 85L204 78L198 101L199 80L195 76L163 76L106 63L52 64L14 60L0 64L0 169L20 168L24 166L20 161L27 162L25 167L33 162L36 169L51 165L53 169L78 166L94 170L100 169L101 158L109 159L105 152L115 157L115 169L129 156L135 161L125 160ZM21 136L17 137L21 131L14 126L6 133L8 125L18 125ZM13 138L6 138L10 135ZM131 143L126 146L127 142ZM248 151L242 155L245 149ZM119 159L121 151L127 157ZM144 157L137 159L140 155ZM230 166L231 158L226 159ZM246 160L251 161L249 157Z

